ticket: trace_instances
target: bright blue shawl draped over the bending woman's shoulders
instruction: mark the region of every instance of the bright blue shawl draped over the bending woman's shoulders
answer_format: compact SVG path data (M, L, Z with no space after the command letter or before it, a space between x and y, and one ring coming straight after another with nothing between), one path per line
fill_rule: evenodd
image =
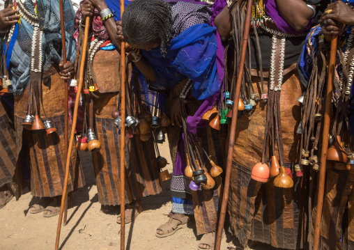
M161 54L160 47L142 50L144 58L153 66L157 84L171 89L189 78L197 100L206 100L220 91L215 33L215 27L196 24L171 40L165 55Z

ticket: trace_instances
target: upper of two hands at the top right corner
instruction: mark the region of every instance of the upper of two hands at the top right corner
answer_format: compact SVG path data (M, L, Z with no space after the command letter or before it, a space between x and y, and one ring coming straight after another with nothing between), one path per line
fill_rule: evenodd
M335 1L328 4L323 15L318 22L326 23L328 19L332 19L342 24L354 25L354 10L343 1Z

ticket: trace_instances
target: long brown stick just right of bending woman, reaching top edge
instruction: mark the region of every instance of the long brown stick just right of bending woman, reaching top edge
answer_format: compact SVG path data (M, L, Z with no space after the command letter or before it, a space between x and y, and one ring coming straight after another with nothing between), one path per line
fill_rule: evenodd
M236 105L233 106L234 110L233 110L233 116L231 119L229 150L227 152L227 161L226 161L225 185L224 185L224 192L222 194L222 207L220 210L219 225L217 226L217 236L216 236L216 242L215 242L215 249L216 250L220 250L220 247L221 247L222 231L224 230L226 206L227 206L227 200L229 198L232 153L233 153L233 146L235 145L236 123L237 123L237 113L238 113L237 103L238 103L238 99L240 98L241 82L243 79L243 69L245 67L245 57L246 57L247 42L248 42L248 36L249 36L249 27L251 25L252 4L253 4L253 1L248 0L247 10L246 10L246 19L245 19L245 29L243 30L243 45L242 45L242 49L241 49L240 65L238 66L238 76L237 76L237 81L236 81L235 97L233 100L233 103L236 103Z

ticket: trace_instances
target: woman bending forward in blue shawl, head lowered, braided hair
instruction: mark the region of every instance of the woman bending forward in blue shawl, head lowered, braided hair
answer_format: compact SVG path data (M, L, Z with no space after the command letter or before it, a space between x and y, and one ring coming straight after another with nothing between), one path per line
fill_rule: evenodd
M201 116L213 107L219 96L224 72L223 52L219 54L220 47L217 47L220 38L210 22L213 12L208 6L196 3L136 0L123 13L118 39L125 39L136 48L128 58L137 67L134 74L140 79L146 102L153 104L149 93L158 92L158 107L166 111L173 125L167 132L174 163L172 211L169 221L157 228L156 236L176 233L194 214L197 235L203 235L199 249L214 249L220 182L211 190L191 191L190 180L183 174L186 164L180 128L183 123L180 93L187 79L191 84L186 98L187 130L199 136L201 147L220 166L223 166L226 137L201 121ZM209 168L208 161L206 164Z

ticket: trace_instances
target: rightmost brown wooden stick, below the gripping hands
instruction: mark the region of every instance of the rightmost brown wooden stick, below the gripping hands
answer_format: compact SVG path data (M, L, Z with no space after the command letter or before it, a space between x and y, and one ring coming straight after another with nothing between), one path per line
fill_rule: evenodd
M328 81L327 92L325 95L325 118L323 120L323 132L322 132L322 149L321 149L321 164L320 173L318 179L318 193L317 193L317 211L315 221L315 233L314 233L314 250L318 250L318 244L320 242L321 231L321 218L323 208L323 195L325 194L325 163L328 150L328 134L330 133L330 111L332 104L332 90L334 81L334 70L337 54L337 37L330 43L330 64L328 67Z

